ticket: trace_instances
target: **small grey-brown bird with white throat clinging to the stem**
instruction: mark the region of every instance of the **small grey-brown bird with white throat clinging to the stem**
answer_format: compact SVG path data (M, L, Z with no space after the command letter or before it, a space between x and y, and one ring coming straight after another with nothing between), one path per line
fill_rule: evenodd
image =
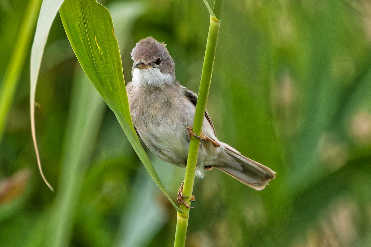
M198 178L215 167L255 190L262 190L275 178L276 173L270 168L219 141L207 111L201 136L193 132L197 94L175 78L174 60L166 44L147 37L136 43L130 54L134 63L132 81L126 86L129 109L138 136L152 153L167 163L185 167L190 138L194 136L201 139L196 164ZM177 203L190 208L182 190L183 184Z

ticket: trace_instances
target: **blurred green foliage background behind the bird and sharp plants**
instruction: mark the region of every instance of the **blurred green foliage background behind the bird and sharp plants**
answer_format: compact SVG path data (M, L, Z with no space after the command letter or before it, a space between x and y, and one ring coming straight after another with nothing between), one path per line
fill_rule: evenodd
M99 2L113 16L126 82L132 47L153 36L179 82L198 91L209 27L201 0ZM1 81L26 6L0 0ZM82 73L59 15L36 91L55 192L47 188L27 52L0 119L0 246L173 246L175 210ZM219 140L277 178L263 191L217 170L196 180L186 246L371 246L370 1L224 1L207 107ZM175 200L185 170L150 157Z

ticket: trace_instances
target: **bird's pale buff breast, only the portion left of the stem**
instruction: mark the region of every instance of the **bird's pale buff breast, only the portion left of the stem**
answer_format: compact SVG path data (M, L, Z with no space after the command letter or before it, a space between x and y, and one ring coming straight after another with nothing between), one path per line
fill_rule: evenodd
M188 118L181 114L179 96L174 90L143 90L130 84L127 89L133 123L144 144L162 160L185 166Z

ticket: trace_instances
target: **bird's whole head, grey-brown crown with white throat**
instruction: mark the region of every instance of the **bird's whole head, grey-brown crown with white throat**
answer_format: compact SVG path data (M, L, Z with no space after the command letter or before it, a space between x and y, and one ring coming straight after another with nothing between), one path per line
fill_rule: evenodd
M140 40L131 51L132 82L140 86L164 87L175 81L174 61L166 45L152 37Z

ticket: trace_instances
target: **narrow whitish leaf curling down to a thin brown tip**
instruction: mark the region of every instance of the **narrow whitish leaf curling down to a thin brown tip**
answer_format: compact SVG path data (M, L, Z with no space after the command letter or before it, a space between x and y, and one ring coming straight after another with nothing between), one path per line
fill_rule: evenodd
M35 37L31 49L31 63L30 63L30 114L31 114L31 131L33 144L35 146L37 163L39 165L40 174L43 180L53 190L52 186L46 181L46 178L41 169L39 150L36 144L36 130L35 130L35 93L37 77L41 65L41 59L44 53L47 36L52 26L53 20L62 5L64 0L45 0L43 1L40 9L39 19L35 31Z

